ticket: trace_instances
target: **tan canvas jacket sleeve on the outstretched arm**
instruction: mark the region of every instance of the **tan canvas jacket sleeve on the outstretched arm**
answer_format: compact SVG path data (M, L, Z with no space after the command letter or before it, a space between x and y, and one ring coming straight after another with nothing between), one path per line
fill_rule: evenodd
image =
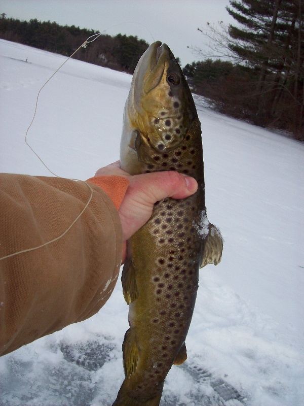
M128 181L122 183L121 194ZM0 260L0 355L85 320L109 298L121 264L121 223L109 196L89 185L0 175L0 258L56 239L93 190L62 238Z

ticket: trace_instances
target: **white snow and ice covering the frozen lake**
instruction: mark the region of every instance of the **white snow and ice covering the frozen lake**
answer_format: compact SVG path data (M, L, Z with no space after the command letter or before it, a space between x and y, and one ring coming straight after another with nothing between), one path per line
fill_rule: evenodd
M1 172L50 175L24 138L37 93L63 61L0 41ZM42 90L28 142L57 175L90 178L119 158L130 83L125 73L69 60ZM300 406L304 145L212 112L199 98L197 108L208 217L224 251L217 267L201 271L188 360L172 367L161 404ZM111 405L127 328L118 282L91 319L0 358L0 405Z

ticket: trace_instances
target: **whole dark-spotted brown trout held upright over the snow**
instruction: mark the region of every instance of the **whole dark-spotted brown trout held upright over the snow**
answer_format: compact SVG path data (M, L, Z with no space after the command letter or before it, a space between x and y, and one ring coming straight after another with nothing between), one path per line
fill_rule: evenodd
M166 198L128 241L123 268L130 328L125 334L125 380L113 406L157 406L172 364L186 359L199 268L219 263L222 239L208 222L201 123L172 52L155 42L135 69L124 112L121 167L131 175L178 171L198 191Z

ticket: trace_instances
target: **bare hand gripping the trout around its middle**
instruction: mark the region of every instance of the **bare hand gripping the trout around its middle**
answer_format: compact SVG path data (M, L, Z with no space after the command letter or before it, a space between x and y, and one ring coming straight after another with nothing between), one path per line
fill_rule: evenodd
M182 199L198 189L194 178L174 171L129 175L120 167L120 162L100 168L95 176L117 175L127 178L130 185L119 208L123 229L124 248L122 263L126 258L126 241L151 217L153 205L166 197Z

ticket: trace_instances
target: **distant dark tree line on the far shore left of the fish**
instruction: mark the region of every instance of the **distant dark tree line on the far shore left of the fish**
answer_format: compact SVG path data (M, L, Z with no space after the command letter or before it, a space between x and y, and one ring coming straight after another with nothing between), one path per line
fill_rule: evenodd
M92 29L61 26L56 22L20 21L0 16L0 38L44 49L65 56L71 55L87 38L97 34ZM149 44L134 36L101 35L98 41L81 48L73 58L106 66L117 71L133 73L135 66Z

